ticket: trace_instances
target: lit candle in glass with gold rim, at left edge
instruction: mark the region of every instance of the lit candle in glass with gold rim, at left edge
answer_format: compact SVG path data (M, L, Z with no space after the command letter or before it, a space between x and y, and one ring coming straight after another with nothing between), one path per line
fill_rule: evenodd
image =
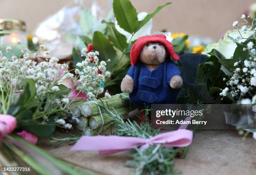
M21 48L28 47L26 24L22 20L0 19L0 33L8 35L0 37L0 50L5 53L7 46L13 47L13 55L19 56ZM21 41L18 45L17 42Z

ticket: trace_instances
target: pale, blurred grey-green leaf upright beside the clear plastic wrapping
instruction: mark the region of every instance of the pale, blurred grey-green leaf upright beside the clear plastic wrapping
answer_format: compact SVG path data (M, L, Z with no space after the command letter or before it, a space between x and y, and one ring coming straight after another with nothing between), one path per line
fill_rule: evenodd
M90 32L93 26L93 15L86 8L82 8L80 17L80 27L84 33Z

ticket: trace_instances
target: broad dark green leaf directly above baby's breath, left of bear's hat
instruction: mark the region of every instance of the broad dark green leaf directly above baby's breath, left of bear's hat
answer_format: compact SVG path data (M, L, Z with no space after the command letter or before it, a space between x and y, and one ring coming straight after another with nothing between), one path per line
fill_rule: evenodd
M107 70L111 71L115 66L116 52L113 46L108 41L108 39L105 37L105 35L99 31L96 31L93 34L92 46L93 50L98 51L100 53L100 60L111 60L107 64Z

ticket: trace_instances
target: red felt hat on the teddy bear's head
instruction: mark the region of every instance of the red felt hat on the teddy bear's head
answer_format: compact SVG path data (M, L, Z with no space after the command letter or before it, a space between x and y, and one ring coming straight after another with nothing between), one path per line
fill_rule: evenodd
M132 65L135 65L136 61L138 60L138 57L140 56L142 48L147 43L162 44L165 47L166 51L174 60L179 60L179 56L174 52L174 48L172 44L168 40L166 40L166 36L163 34L158 34L158 35L151 35L151 36L142 36L138 38L138 40L133 44L131 48L131 64Z

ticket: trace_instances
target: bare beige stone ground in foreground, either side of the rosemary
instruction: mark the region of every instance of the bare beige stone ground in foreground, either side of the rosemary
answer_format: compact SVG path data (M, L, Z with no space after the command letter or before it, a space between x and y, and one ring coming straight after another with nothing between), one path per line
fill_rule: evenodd
M102 175L131 175L133 168L124 167L132 151L99 156L97 152L72 152L72 146L51 148L47 139L38 146L52 155ZM185 159L175 159L182 175L256 175L256 140L251 134L242 140L236 130L199 130Z

